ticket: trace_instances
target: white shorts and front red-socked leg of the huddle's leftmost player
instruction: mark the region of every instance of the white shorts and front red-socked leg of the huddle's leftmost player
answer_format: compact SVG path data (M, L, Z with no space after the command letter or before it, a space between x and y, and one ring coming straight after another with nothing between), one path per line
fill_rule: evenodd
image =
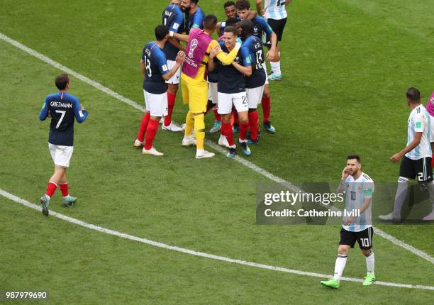
M164 155L157 151L152 146L152 143L157 134L160 118L167 115L167 94L152 94L146 92L146 100L150 105L150 120L146 128L145 145L143 146L142 153L144 155Z

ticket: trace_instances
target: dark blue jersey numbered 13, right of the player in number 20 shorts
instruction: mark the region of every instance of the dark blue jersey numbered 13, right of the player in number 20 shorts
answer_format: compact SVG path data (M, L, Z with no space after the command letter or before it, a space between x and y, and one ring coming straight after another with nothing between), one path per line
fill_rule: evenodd
M245 67L252 66L252 75L245 78L246 88L257 88L265 84L264 49L260 38L249 36L241 45L241 57Z

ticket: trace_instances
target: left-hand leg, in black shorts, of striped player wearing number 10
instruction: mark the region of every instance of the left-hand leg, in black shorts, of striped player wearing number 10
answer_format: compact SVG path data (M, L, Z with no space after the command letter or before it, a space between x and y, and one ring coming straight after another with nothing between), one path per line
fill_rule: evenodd
M340 229L340 241L338 248L338 257L336 257L335 261L335 273L333 274L333 278L328 281L321 281L326 287L338 289L340 286L340 278L343 275L343 270L345 269L345 265L347 264L347 257L350 248L354 248L356 242L355 232L347 231L344 228Z

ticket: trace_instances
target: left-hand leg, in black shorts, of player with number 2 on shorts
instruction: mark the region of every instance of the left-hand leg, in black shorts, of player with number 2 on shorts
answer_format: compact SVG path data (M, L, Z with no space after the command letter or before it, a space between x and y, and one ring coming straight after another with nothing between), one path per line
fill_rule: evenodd
M414 160L404 156L399 167L398 187L396 189L394 210L386 215L380 215L378 218L384 221L401 220L401 209L406 201L408 194L408 179L416 178L416 167Z

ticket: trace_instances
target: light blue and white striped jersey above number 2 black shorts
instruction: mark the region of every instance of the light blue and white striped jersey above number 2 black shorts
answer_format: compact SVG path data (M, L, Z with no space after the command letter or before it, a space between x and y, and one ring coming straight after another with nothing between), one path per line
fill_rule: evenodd
M416 146L406 157L411 160L419 160L423 157L431 157L430 145L430 114L426 111L425 107L421 104L411 111L408 117L407 124L407 145L414 139L414 133L422 133L421 143Z

